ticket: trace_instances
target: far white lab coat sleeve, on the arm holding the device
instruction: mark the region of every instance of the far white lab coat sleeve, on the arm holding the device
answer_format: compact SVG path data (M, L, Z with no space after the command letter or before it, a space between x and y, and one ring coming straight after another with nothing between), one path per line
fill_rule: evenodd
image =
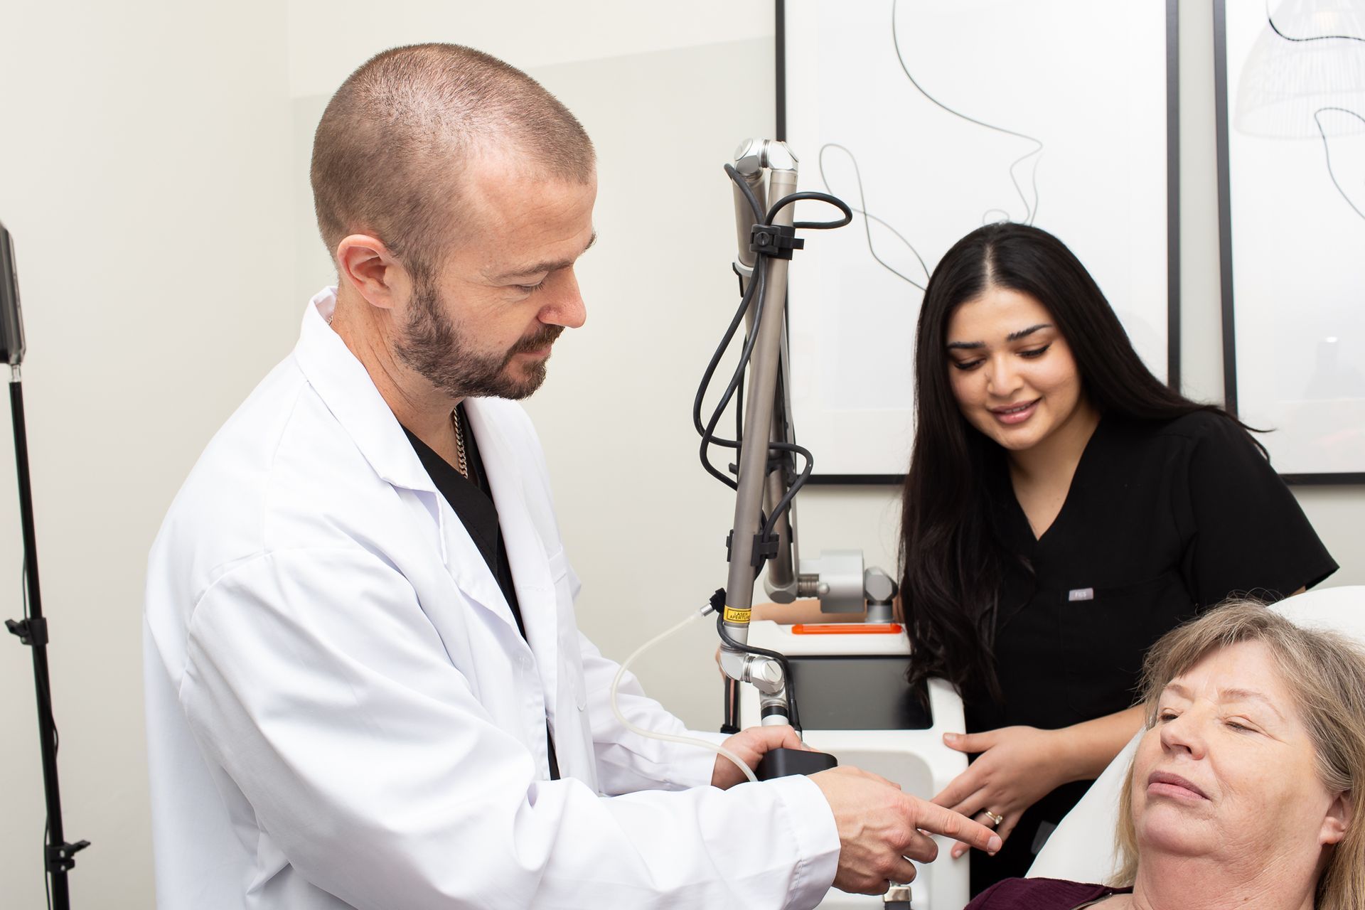
M592 720L592 746L597 754L598 782L602 793L620 794L635 790L685 790L711 783L715 771L715 752L702 746L688 746L662 739L650 739L631 733L612 711L612 679L620 669L614 660L579 633L583 654L583 678L588 693L588 718ZM719 677L717 677L719 692ZM635 674L621 677L617 692L621 714L635 726L657 733L693 737L707 742L723 742L722 733L688 730L687 724L644 694Z

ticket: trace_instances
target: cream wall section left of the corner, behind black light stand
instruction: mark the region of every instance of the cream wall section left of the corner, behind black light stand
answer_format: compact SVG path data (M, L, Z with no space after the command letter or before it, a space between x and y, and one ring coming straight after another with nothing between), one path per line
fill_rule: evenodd
M210 434L292 344L284 10L4 5L0 218L14 233L52 697L81 907L152 906L147 548ZM0 412L0 618L20 614ZM44 906L30 652L0 640L0 906Z

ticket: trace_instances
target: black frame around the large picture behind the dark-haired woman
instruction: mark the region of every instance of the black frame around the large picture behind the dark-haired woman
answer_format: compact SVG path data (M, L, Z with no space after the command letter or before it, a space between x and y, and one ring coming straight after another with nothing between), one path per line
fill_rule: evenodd
M1222 0L1219 0L1222 1ZM1179 142L1179 16L1177 0L1166 3L1166 156L1167 156L1167 385L1181 387L1181 142ZM777 139L786 139L786 0L775 0ZM901 486L904 473L812 473L811 484Z

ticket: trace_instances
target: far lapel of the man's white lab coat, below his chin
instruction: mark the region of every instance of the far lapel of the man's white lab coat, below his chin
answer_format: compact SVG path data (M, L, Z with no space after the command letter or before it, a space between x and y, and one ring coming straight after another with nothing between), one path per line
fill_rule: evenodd
M517 453L478 398L465 398L464 411L479 446L489 486L493 487L493 502L498 508L498 524L512 566L527 641L545 685L550 703L547 707L554 712L558 700L558 608L554 578L550 576L550 554L527 506Z

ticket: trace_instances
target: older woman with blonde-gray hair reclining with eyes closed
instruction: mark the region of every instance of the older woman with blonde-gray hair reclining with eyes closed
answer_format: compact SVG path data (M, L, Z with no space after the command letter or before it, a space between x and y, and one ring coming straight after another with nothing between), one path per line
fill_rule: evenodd
M1360 645L1234 602L1158 641L1144 696L1117 884L1009 879L968 910L1365 907Z

